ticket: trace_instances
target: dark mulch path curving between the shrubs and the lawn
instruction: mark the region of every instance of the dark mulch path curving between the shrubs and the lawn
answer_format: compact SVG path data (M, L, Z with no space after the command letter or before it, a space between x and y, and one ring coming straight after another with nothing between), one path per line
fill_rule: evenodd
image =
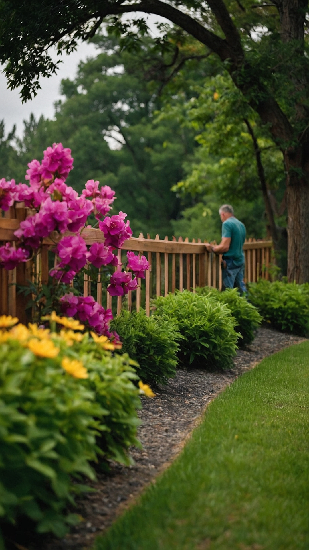
M207 404L238 376L267 357L304 339L291 334L260 328L254 342L238 350L234 368L220 371L179 369L167 386L160 387L153 399L142 398L139 412L142 425L138 437L143 449L131 449L134 466L111 464L109 474L97 472L96 489L78 499L75 513L84 519L63 539L50 535L39 544L27 544L28 550L84 550L134 502L141 490L179 454Z

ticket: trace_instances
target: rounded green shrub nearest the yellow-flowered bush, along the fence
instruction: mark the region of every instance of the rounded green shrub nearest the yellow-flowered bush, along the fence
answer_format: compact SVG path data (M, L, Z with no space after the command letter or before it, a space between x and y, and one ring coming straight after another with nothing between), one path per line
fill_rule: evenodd
M143 381L164 384L175 376L181 337L173 320L147 317L145 310L123 310L111 328L123 342L122 351L139 363L137 372Z

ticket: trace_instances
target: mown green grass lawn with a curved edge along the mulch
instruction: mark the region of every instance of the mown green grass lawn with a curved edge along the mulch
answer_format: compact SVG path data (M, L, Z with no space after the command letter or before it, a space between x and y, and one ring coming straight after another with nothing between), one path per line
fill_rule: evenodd
M236 380L95 550L308 548L308 382L308 342Z

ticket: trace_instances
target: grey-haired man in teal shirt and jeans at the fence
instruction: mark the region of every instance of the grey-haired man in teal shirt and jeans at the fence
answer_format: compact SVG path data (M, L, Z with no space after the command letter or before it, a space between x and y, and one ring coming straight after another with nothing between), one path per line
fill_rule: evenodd
M222 240L218 245L205 243L208 252L223 254L222 282L224 288L238 287L240 294L247 294L244 282L245 255L242 250L246 238L246 228L239 219L235 218L231 205L222 205L219 208L222 221Z

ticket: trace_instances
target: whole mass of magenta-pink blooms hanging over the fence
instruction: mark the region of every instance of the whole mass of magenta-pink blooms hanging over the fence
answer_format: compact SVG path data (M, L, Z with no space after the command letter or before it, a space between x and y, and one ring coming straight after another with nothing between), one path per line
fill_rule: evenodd
M98 181L88 180L81 195L68 186L65 180L72 168L70 149L64 148L61 143L54 143L44 151L42 162L36 159L29 162L25 176L28 184L16 185L13 179L8 182L4 178L0 179L2 210L7 211L14 205L14 201L23 201L26 208L32 209L31 215L20 222L19 229L14 233L19 239L17 247L10 246L10 243L0 247L0 267L14 269L20 262L29 260L34 251L40 248L43 239L49 238L55 242L56 262L49 272L53 284L72 283L74 277L89 263L102 270L103 275L104 271L108 271L103 268L113 266L117 270L109 280L109 295L128 294L138 287L137 278L145 278L148 262L145 256L139 257L134 252L128 252L127 269L130 271L122 271L114 250L120 249L132 235L130 222L125 221L126 213L109 216L115 191L108 185L100 187ZM82 229L91 213L99 222L104 243L93 243L87 247L82 238ZM57 292L63 292L59 284L57 289ZM105 310L92 296L67 293L60 298L60 308L65 315L78 318L97 334L104 334L119 344L118 334L109 331L112 311Z

